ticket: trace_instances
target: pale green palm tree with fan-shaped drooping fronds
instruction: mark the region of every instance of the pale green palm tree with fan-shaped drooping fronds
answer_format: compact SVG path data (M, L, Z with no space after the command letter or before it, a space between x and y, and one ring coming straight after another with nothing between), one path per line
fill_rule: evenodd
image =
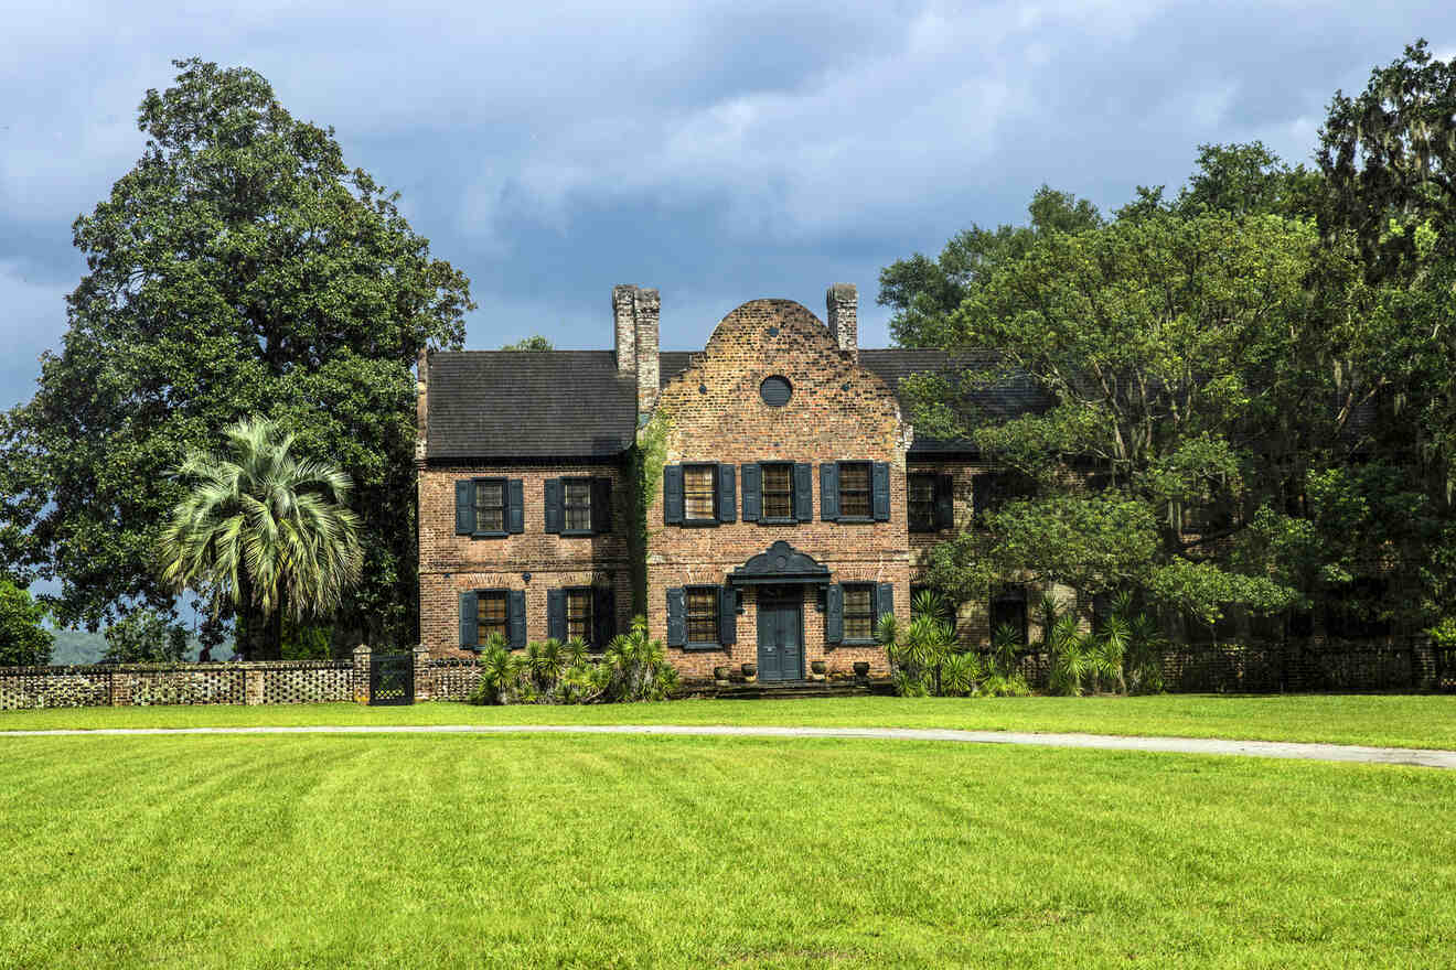
M272 659L287 614L301 621L338 608L358 582L354 481L325 461L290 454L293 435L252 417L224 429L226 454L189 452L178 477L191 490L159 547L162 582L194 589L245 620L248 659Z

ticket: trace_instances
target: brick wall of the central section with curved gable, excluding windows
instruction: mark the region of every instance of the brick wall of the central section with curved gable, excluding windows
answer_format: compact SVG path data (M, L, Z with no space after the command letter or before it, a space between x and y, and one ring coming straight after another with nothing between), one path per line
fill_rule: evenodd
M759 385L786 377L789 401L770 407ZM895 614L910 615L910 556L906 524L906 436L900 406L885 382L840 349L828 327L802 305L756 300L729 313L713 330L703 353L662 388L658 407L671 416L668 464L759 461L812 462L814 521L796 525L743 522L741 473L738 521L715 528L662 524L662 496L648 512L648 624L667 633L667 589L722 585L727 574L776 540L785 540L831 570L831 582L875 582L894 586ZM888 522L824 522L820 518L818 465L831 461L882 461L890 474ZM814 588L804 601L804 660L826 660L830 673L846 673L868 660L875 675L888 673L878 647L830 647L824 614ZM684 679L711 679L715 666L757 660L757 593L744 590L737 644L725 650L668 654Z

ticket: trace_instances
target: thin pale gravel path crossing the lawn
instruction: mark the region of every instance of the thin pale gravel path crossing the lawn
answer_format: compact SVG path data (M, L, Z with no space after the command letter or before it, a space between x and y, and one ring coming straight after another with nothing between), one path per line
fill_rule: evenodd
M339 727L106 727L98 730L3 731L0 737L92 737L96 734L674 734L692 737L856 737L887 740L961 742L974 745L1042 745L1102 750L1175 752L1182 755L1243 755L1348 761L1376 765L1420 765L1456 769L1456 752L1421 747L1364 747L1296 742L1233 742L1206 737L1124 737L1118 734L1032 734L1024 731L961 731L920 727L727 727L680 724L399 724Z

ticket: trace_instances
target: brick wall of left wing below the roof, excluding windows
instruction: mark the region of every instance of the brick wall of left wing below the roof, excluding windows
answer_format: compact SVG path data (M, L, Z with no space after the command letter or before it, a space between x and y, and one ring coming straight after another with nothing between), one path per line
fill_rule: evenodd
M524 531L504 538L454 534L454 483L498 476L520 478ZM562 477L612 480L612 532L563 537L546 532L545 483ZM562 586L612 586L617 630L632 614L628 558L632 503L623 470L610 464L448 465L419 471L419 643L432 656L460 650L460 593L472 589L526 590L526 638L546 638L546 590ZM530 573L530 580L524 574Z

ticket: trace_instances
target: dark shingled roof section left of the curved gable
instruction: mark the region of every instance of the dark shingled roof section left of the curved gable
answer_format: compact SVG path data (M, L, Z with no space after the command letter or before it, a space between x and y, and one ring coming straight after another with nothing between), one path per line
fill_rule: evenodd
M430 458L610 458L636 435L636 380L612 350L441 350Z

